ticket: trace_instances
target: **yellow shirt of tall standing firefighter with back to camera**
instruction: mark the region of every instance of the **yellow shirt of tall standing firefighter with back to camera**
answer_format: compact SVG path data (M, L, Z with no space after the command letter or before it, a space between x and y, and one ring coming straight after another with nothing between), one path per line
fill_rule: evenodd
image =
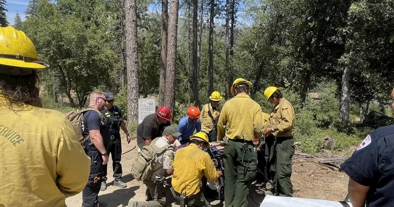
M220 113L217 123L217 140L226 135L231 140L245 139L252 141L262 135L261 106L246 94L239 94L227 101ZM226 123L229 130L225 133Z

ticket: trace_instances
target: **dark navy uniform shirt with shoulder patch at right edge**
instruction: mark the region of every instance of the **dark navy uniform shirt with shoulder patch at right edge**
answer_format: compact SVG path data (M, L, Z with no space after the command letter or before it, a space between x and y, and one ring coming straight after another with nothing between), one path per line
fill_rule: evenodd
M394 207L394 125L371 132L341 168L357 183L370 186L368 207Z

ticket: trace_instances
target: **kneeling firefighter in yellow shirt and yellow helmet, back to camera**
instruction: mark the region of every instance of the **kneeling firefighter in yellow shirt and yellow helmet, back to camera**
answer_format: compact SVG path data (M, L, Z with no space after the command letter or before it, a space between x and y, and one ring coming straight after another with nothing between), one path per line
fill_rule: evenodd
M181 194L186 194L185 203L189 207L211 207L200 191L201 178L204 175L214 182L223 175L216 171L211 157L203 151L208 147L208 136L198 132L190 136L190 145L178 149L175 156L171 192L178 201Z

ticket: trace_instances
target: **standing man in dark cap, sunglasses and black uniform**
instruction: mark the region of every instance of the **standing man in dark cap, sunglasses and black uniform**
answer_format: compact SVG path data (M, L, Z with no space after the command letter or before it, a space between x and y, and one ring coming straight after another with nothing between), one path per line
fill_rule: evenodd
M120 129L126 133L127 144L130 144L131 137L127 130L126 124L123 121L122 110L113 104L115 102L115 96L111 92L106 92L105 98L105 108L101 111L101 113L104 117L107 117L111 132L111 141L108 146L108 153L110 153L112 156L113 179L115 179L113 185L125 188L127 185L122 181L122 165L120 163L122 154ZM107 189L107 166L108 165L104 165L100 190Z

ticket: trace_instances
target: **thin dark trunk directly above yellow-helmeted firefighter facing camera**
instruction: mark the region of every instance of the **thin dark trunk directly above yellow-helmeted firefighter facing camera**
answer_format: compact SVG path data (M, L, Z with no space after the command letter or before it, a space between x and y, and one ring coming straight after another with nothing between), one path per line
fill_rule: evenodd
M209 20L209 48L208 48L208 94L214 91L214 16L215 0L211 0Z

